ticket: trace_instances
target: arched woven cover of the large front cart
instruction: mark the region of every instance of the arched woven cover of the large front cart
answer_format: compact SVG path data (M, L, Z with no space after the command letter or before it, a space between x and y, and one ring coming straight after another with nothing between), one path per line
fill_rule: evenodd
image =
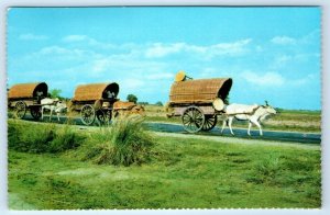
M231 86L231 78L174 82L170 87L169 103L211 103L217 98L226 100Z

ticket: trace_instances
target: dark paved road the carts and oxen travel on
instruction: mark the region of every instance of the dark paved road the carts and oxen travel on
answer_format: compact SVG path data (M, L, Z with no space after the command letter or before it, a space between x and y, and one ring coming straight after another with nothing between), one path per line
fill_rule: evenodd
M30 115L24 116L25 121L34 121ZM43 122L50 122L48 117L45 117ZM53 116L52 122L57 122L57 118ZM66 123L66 117L62 116L59 123ZM84 125L80 118L74 118L74 124ZM98 126L98 122L96 121L92 126ZM166 132L166 133L179 133L179 134L189 134L184 127L179 124L170 124L170 123L145 123L146 126L154 132ZM233 128L234 137L239 138L248 138L248 139L268 139L268 140L283 140L283 142L294 142L294 143L305 143L305 144L320 144L321 135L320 134L311 134L311 133L296 133L296 132L270 132L263 131L264 135L260 136L258 131L251 131L251 136L246 134L246 129L243 128ZM224 129L223 134L220 134L220 129L215 127L209 132L199 132L197 135L208 135L208 136L232 136L229 129Z

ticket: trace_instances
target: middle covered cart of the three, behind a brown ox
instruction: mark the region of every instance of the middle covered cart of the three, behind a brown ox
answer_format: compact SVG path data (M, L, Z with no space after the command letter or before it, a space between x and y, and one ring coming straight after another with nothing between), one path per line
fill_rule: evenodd
M91 125L96 118L100 123L109 123L118 93L119 84L116 82L78 86L69 110L80 112L80 120L85 125Z

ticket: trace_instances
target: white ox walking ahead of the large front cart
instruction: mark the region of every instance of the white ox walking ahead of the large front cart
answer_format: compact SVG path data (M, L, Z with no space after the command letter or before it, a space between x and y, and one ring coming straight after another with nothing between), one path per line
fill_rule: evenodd
M226 124L228 123L230 133L232 135L232 128L231 124L233 118L240 120L240 121L249 121L249 129L248 129L248 135L250 136L250 129L252 124L256 125L258 127L260 135L263 135L263 131L261 127L261 122L264 121L267 116L276 114L276 110L270 106L266 102L266 105L246 105L246 104L229 104L226 108L224 111L224 121L222 122L222 128L221 128L221 134L226 127Z

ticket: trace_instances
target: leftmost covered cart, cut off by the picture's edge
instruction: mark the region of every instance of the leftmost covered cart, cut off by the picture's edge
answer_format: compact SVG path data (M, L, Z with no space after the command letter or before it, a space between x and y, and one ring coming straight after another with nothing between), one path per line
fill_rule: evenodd
M29 110L33 118L38 120L42 116L41 100L47 97L47 92L45 82L14 84L8 92L8 108L18 118L23 118Z

